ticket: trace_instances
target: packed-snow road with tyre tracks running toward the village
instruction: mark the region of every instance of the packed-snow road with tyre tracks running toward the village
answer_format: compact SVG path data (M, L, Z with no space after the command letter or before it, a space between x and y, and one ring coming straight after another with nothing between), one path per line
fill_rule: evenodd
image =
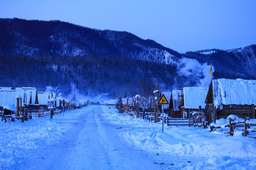
M27 165L42 170L153 170L166 168L165 155L147 153L120 140L119 129L105 117L102 107L91 106L57 143ZM156 159L156 157L159 157ZM174 162L174 161L172 161ZM161 164L162 163L162 164Z

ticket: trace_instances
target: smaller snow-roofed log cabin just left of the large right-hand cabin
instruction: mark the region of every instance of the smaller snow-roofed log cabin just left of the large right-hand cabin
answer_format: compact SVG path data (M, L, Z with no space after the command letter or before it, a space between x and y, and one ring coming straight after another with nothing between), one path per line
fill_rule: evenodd
M208 90L208 87L183 87L183 95L179 105L180 115L183 115L183 118L188 118L188 113L192 111L204 112Z

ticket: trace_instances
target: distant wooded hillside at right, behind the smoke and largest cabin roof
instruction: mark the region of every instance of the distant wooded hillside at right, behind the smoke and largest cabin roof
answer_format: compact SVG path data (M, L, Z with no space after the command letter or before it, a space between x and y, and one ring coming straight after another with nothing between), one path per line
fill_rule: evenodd
M215 67L216 78L256 79L256 45L228 51L211 49L186 52L184 56L201 63L211 63Z

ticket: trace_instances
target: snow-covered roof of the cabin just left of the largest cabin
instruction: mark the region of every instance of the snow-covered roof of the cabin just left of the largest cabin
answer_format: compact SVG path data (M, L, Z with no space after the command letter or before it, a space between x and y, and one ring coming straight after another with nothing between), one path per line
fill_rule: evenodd
M204 108L208 90L208 87L183 87L184 108L198 109L199 106Z

